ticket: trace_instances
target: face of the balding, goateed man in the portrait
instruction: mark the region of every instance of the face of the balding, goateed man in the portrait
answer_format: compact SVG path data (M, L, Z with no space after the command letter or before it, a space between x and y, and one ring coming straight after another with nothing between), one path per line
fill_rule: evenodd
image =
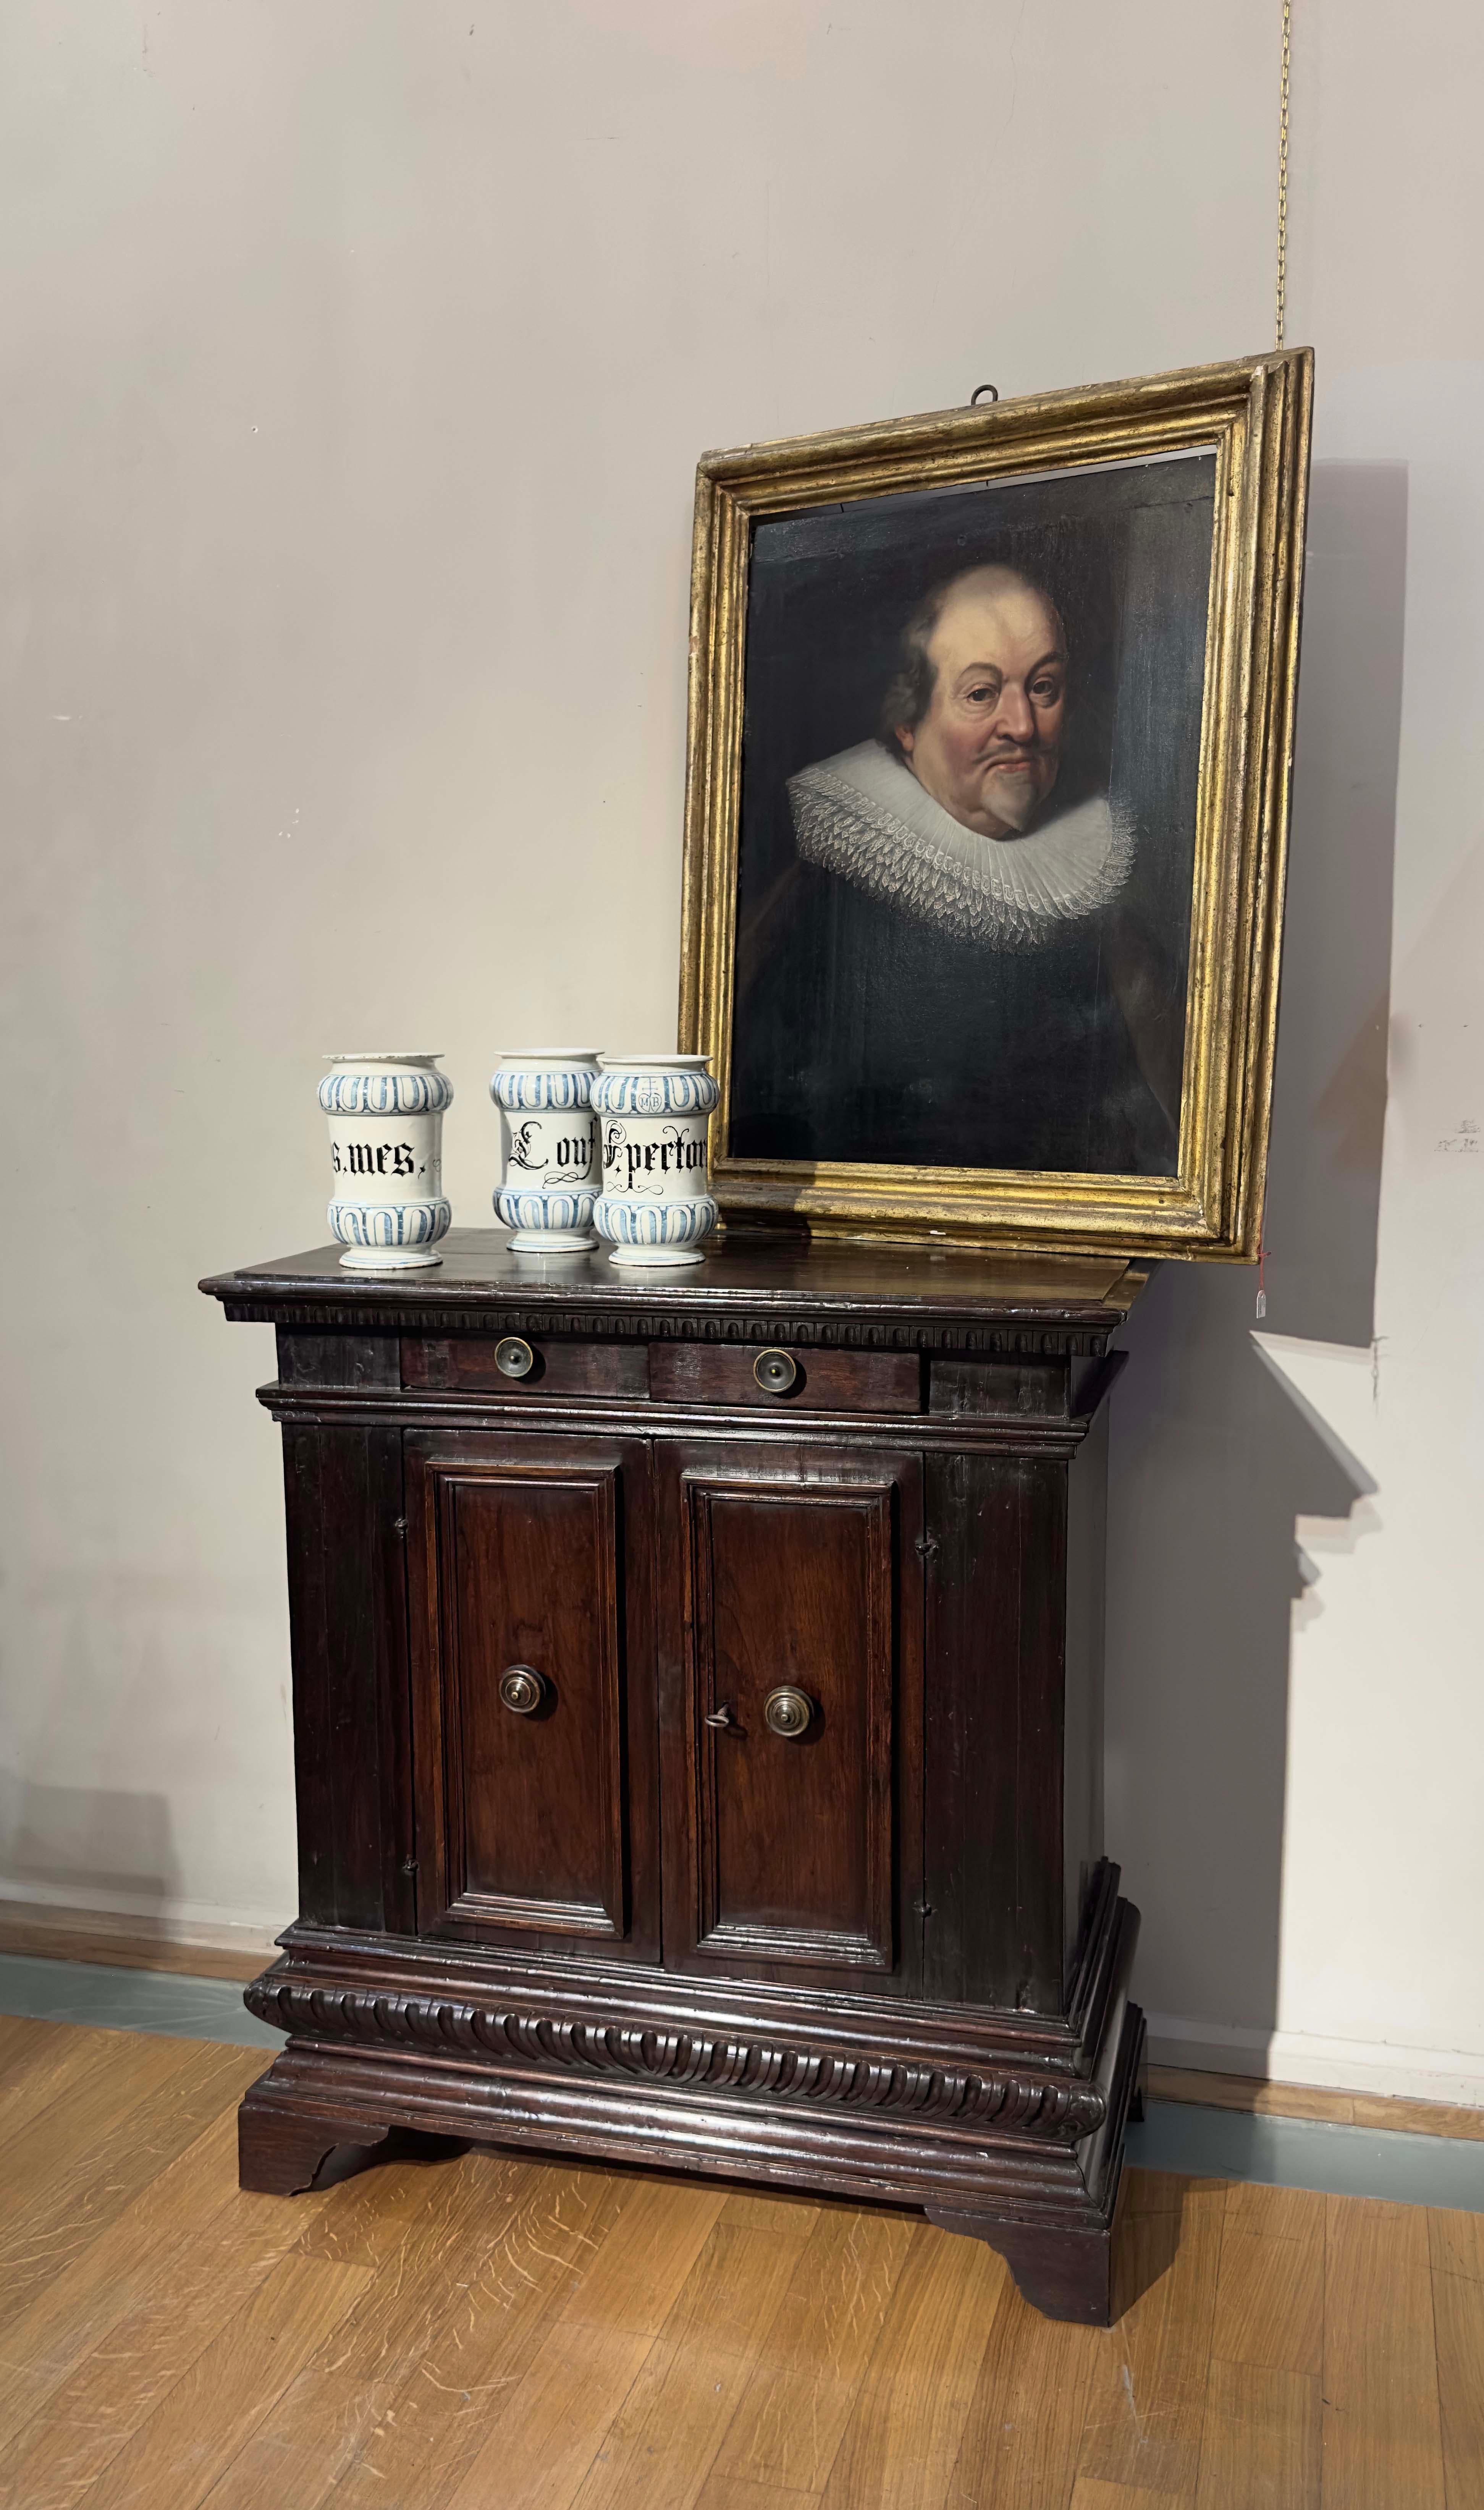
M896 733L917 781L964 828L1019 836L1062 761L1067 648L1045 592L1007 567L959 577L932 630L932 705Z

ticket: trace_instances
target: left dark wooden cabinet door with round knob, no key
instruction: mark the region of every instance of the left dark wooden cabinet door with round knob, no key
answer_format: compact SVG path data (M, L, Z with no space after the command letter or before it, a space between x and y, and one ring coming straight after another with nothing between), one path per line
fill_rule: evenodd
M422 1933L655 1958L648 1451L409 1441Z

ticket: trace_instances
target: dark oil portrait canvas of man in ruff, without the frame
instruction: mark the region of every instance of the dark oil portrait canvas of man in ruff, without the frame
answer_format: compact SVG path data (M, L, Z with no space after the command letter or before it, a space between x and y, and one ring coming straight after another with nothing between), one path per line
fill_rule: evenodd
M758 532L736 1157L1175 1172L1210 492L1198 454Z

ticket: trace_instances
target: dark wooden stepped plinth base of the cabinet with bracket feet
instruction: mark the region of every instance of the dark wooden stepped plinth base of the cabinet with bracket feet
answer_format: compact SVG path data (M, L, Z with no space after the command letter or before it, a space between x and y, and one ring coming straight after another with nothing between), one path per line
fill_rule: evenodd
M806 2046L768 1990L294 1940L249 1988L291 2038L244 2101L241 2184L291 2194L336 2144L412 2128L819 2189L922 2206L999 2249L1037 2309L1107 2324L1143 2016L1137 1913L1105 1872L1077 2026L841 1998Z

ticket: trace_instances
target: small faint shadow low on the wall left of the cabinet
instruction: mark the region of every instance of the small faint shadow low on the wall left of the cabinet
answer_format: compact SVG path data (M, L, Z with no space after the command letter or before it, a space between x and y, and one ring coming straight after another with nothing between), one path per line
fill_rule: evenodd
M75 1908L123 1900L148 1918L181 1890L166 1797L0 1772L0 1898L18 1888Z

